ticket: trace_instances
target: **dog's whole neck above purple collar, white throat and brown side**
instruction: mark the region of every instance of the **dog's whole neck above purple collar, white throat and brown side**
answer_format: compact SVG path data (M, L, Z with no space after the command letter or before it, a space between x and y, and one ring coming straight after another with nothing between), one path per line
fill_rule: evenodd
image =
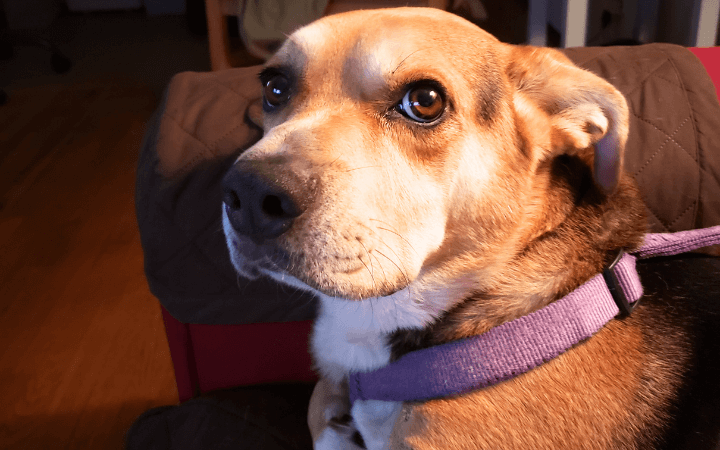
M536 177L536 198L528 200L535 224L515 233L518 244L495 269L478 269L482 280L469 272L457 286L443 286L438 298L417 296L413 285L361 302L321 295L312 346L323 377L341 382L348 371L373 370L410 351L484 333L567 295L600 273L618 249L641 244L644 207L629 178L608 199L585 181L589 169L578 160L559 158L546 169Z

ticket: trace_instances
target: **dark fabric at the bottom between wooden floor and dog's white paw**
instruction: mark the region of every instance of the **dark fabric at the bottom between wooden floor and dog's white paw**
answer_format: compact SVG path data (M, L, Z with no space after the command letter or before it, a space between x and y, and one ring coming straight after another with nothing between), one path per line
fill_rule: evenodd
M312 384L243 387L142 414L126 450L311 450Z

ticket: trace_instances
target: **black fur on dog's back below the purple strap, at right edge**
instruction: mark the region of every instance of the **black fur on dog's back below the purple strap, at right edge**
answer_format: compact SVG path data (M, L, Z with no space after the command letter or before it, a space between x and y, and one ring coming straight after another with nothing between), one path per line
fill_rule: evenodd
M662 450L720 449L720 258L685 254L638 264L643 302L691 342L691 365L671 406ZM647 327L648 340L664 329ZM650 447L641 447L650 448Z

